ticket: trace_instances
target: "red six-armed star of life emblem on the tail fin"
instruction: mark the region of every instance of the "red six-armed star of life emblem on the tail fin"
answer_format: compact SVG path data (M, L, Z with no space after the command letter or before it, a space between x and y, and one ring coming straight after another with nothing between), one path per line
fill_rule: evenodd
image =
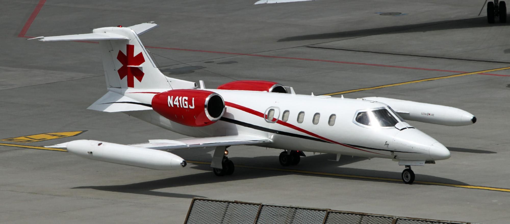
M135 45L127 44L126 46L126 54L122 53L119 50L119 54L117 54L117 60L122 64L122 67L117 70L119 73L120 79L123 79L127 76L127 87L135 87L135 77L138 81L142 81L144 73L138 67L131 66L140 66L145 62L143 58L142 52L138 53L136 56L133 56L135 53Z

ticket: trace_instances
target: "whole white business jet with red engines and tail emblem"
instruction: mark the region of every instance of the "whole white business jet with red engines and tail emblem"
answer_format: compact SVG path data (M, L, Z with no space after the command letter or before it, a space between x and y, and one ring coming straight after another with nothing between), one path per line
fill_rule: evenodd
M40 41L99 41L108 92L88 109L122 112L192 138L119 145L77 140L55 146L79 156L155 170L186 166L173 149L212 148L217 176L234 173L227 147L254 145L284 150L283 166L296 165L303 152L387 158L404 165L402 180L413 183L412 165L450 158L436 139L406 120L461 126L476 118L461 109L390 98L362 99L299 95L291 87L261 80L206 89L163 75L138 35L157 25L103 27L91 34L38 37Z

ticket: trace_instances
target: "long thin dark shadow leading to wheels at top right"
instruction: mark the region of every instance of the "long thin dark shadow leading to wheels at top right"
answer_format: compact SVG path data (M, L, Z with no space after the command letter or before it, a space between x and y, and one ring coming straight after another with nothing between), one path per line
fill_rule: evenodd
M453 23L453 24L452 24ZM465 29L474 27L488 27L488 26L505 26L510 23L487 23L486 17L476 17L469 19L445 20L437 22L426 22L409 25L386 26L373 29L356 30L356 31L343 31L335 33L311 34L302 36L293 36L279 39L277 42L286 41L302 41L302 40L321 40L321 39L335 39L335 38L351 38L351 37L364 37L378 34L400 34L400 33L417 33L427 31L440 31L440 30L454 30Z

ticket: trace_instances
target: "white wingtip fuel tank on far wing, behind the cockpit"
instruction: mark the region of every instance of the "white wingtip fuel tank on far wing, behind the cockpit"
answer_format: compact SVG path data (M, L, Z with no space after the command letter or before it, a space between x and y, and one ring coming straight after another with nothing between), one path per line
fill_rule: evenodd
M476 122L476 117L474 115L465 110L451 106L385 97L364 97L362 99L385 103L405 120L447 126L464 126Z

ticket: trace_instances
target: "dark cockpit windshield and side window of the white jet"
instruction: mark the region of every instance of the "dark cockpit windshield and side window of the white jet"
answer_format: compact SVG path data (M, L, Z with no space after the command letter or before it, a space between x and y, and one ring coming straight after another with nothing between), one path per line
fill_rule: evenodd
M398 123L386 108L362 111L356 115L355 121L372 127L393 127Z

